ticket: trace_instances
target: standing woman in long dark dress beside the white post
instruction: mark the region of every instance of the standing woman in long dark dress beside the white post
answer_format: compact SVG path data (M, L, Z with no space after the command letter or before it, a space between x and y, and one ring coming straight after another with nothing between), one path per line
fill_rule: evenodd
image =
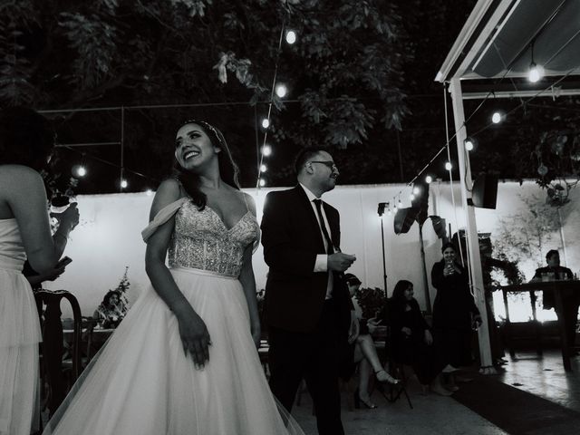
M441 248L443 258L431 269L431 283L437 289L433 303L433 335L436 345L451 367L473 363L471 339L481 325L481 316L469 291L469 276L456 262L453 244ZM444 372L452 371L444 370Z

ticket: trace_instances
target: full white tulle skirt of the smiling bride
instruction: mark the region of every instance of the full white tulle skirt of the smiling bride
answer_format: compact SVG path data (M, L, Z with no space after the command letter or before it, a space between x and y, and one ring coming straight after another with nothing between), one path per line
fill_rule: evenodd
M150 288L82 373L44 433L303 433L292 419L285 425L269 390L239 281L197 269L176 268L171 274L208 326L212 345L205 368L196 370L186 357L175 315Z

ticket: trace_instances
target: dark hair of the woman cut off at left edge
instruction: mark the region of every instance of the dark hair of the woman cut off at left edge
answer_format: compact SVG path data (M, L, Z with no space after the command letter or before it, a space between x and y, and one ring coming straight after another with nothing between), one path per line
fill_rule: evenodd
M40 170L53 152L51 122L21 106L0 111L0 165L16 164Z

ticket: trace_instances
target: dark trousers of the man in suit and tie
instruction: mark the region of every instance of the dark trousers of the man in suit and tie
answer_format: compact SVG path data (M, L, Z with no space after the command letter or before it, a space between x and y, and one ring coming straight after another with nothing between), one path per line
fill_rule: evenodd
M323 314L311 333L295 333L269 326L270 389L287 411L292 410L302 379L314 401L320 435L342 435L341 396L338 388L338 310L324 303ZM344 338L346 339L346 338Z

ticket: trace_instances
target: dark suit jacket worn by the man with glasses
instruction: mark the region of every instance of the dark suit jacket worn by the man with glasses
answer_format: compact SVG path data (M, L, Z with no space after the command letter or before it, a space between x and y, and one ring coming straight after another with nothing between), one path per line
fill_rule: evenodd
M340 246L338 211L323 202L334 247ZM266 323L291 332L314 330L324 306L327 272L314 273L318 254L325 254L314 209L301 186L270 192L262 218L266 281ZM342 274L334 273L333 299L340 310L341 331L350 324L350 297Z

